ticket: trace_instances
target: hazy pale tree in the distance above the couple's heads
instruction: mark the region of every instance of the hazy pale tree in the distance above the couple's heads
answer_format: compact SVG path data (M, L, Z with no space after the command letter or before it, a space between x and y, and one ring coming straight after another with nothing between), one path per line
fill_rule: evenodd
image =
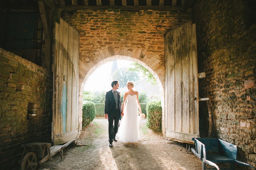
M136 70L130 70L129 68L117 69L112 74L113 80L118 80L120 87L125 87L128 81L139 80L139 73Z

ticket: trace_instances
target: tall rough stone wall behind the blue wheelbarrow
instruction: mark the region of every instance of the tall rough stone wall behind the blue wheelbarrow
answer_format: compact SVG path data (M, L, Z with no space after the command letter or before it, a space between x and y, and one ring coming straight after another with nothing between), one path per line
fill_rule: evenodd
M255 1L202 1L197 24L199 94L210 98L212 137L237 145L238 160L256 167ZM254 19L253 19L254 18Z

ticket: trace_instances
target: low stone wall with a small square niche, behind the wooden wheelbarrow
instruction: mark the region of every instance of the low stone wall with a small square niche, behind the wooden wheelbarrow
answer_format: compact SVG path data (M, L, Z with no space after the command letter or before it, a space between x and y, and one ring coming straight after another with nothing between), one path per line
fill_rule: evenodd
M51 71L0 48L1 169L20 169L21 144L51 142L52 83Z

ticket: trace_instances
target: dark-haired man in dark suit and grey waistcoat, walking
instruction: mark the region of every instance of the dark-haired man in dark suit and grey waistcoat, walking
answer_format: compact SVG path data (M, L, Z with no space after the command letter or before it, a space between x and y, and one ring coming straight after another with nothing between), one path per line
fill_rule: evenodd
M116 134L121 120L121 96L117 91L119 84L117 80L111 83L112 90L108 91L105 96L104 114L109 121L109 146L113 147L113 140L117 141ZM114 126L113 126L114 122Z

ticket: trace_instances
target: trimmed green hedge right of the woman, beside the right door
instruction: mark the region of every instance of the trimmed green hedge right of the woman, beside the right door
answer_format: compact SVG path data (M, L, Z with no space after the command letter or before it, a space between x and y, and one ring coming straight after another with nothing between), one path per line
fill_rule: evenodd
M161 101L147 103L147 126L154 132L162 132Z

